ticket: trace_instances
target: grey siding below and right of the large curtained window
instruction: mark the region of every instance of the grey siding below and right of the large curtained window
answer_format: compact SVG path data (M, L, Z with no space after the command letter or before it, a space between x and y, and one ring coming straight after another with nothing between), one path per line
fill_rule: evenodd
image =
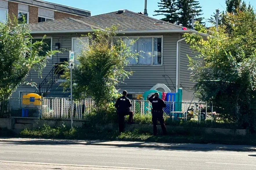
M151 89L151 87L157 83L162 83L167 85L167 87L171 89L171 92L174 92L176 79L177 41L178 34L164 34L163 65L135 65L127 67L127 70L131 69L134 71L134 73L133 76L129 77L129 79L125 79L124 83L126 84L119 85L118 88L120 88L120 91L127 90L128 92L145 92ZM168 78L168 76L165 76L165 79L163 75L168 75L171 80Z

